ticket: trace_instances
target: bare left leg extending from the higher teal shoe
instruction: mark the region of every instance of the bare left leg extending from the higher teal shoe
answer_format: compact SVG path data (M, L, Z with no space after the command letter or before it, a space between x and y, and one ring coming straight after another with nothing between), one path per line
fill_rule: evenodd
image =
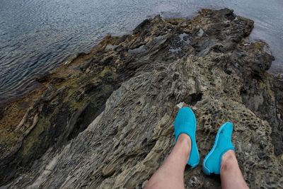
M190 157L190 149L190 137L180 134L171 154L151 176L145 188L184 188L184 171Z

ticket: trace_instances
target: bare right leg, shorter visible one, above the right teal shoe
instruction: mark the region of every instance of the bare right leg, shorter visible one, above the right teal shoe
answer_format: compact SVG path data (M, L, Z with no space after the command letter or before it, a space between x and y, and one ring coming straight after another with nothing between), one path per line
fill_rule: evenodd
M226 151L221 160L221 187L229 189L248 188L238 166L236 154L233 150Z

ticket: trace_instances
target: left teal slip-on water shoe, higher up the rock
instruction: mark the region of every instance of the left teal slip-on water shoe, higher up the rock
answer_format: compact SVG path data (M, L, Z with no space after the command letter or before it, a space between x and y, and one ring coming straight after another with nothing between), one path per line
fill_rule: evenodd
M191 168L195 168L200 163L200 154L197 150L197 142L195 141L195 131L197 130L197 120L192 109L188 107L180 108L174 121L175 139L177 141L180 134L185 133L190 136L192 147L190 158L187 164Z

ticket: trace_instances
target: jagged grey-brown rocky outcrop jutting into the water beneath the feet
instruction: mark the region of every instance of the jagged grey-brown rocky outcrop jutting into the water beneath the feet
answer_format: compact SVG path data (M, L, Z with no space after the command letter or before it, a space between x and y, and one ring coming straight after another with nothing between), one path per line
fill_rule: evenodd
M37 79L40 90L1 111L17 136L0 143L3 188L142 188L173 147L179 103L195 110L202 159L229 120L250 188L282 188L282 78L252 29L226 8L156 16ZM185 185L220 181L198 166Z

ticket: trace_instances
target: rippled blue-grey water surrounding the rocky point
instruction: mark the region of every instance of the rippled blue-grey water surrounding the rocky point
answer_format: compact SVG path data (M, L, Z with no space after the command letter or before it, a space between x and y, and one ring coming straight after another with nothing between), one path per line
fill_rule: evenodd
M0 0L0 101L34 88L35 74L90 50L107 33L129 33L156 14L191 18L200 8L224 7L255 21L250 38L270 44L272 71L282 72L282 0Z

